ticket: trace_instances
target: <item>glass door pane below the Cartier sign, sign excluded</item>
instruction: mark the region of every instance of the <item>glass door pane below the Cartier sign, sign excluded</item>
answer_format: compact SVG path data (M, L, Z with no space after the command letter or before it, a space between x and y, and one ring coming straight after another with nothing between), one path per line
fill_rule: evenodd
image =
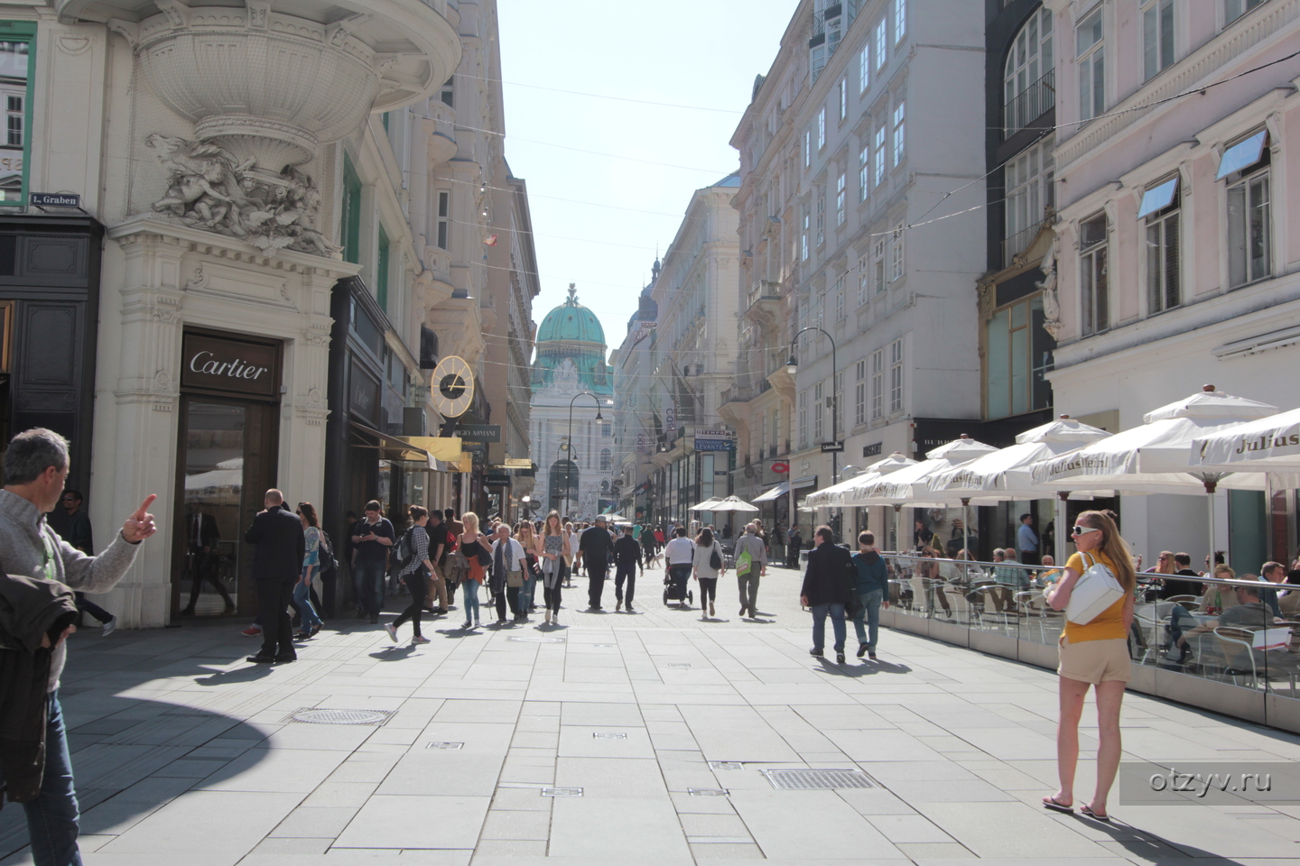
M182 597L186 612L221 614L238 602L247 408L190 400L186 410Z

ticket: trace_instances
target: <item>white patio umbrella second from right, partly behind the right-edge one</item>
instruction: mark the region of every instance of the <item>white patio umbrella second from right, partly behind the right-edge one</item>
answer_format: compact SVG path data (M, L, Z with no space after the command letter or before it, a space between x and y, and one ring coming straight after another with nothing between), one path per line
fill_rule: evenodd
M1192 440L1242 422L1275 414L1277 406L1235 397L1208 384L1200 392L1143 415L1143 425L1087 448L1035 464L1034 483L1050 489L1117 489L1140 493L1199 493L1209 502L1214 549L1214 492L1264 489L1260 473L1221 471L1190 462Z

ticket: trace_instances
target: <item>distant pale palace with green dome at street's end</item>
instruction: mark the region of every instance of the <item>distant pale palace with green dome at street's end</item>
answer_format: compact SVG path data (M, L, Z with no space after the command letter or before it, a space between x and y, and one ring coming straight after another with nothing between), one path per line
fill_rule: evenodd
M536 345L532 440L538 470L534 496L543 510L554 508L562 514L590 518L618 501L612 488L614 369L606 362L604 328L595 313L578 304L572 283L568 299L542 319ZM590 396L578 396L584 392ZM568 441L571 415L572 443Z

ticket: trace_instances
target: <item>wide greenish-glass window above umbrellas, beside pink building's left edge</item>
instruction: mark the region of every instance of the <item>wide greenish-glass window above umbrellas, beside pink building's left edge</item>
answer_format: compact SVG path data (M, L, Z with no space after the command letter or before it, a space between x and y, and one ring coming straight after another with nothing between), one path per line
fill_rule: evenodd
M1043 330L1043 296L993 313L985 328L985 418L1005 418L1052 405L1044 375L1054 345Z

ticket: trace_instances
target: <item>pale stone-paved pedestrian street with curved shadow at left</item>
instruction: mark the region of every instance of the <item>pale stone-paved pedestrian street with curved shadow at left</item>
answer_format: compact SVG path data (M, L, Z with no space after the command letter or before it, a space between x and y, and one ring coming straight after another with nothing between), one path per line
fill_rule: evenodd
M760 622L666 609L393 647L337 619L296 663L254 666L234 622L73 637L64 708L92 866L398 863L1294 863L1300 806L1045 811L1056 676L883 631L880 662L809 656L798 575ZM395 600L390 600L395 604ZM485 609L486 613L486 609ZM341 630L334 631L338 626ZM403 637L410 636L403 630ZM290 721L373 710L381 723ZM1294 761L1300 737L1130 693L1126 760ZM1096 749L1093 708L1083 750ZM870 788L777 789L763 771L862 770ZM1092 763L1080 765L1087 801ZM22 809L0 866L30 863Z

